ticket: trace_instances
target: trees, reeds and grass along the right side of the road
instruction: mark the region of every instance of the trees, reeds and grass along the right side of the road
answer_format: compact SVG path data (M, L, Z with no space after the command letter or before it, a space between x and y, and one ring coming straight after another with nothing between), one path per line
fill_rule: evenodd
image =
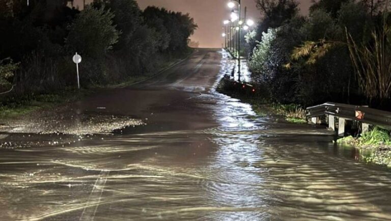
M237 97L299 123L305 107L324 102L391 110L390 1L319 0L307 16L296 0L256 2L263 19L243 34L240 53L258 90ZM391 166L389 134L375 127L338 143L371 150L366 161Z

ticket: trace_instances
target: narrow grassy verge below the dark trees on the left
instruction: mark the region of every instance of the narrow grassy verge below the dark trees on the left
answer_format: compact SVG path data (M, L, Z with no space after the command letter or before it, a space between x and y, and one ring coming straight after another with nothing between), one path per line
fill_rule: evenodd
M127 87L129 85L135 84L136 82L150 78L157 73L160 73L162 70L165 70L182 59L187 58L192 52L193 49L190 49L183 56L173 57L168 61L162 62L162 64L159 66L160 71L150 74L131 76L123 82L115 82L109 85L94 85L90 86L88 89L81 90L68 88L66 90L50 93L32 93L29 95L8 96L3 98L0 97L0 119L16 118L18 116L29 114L42 108L50 108L63 103L77 101L83 97L93 94L99 89Z

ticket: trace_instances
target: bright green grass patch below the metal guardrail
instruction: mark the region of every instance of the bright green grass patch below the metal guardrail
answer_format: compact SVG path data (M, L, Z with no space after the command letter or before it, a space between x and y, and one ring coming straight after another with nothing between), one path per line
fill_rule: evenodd
M374 127L373 130L358 137L347 136L337 141L360 150L366 162L386 165L391 168L391 136L390 131Z

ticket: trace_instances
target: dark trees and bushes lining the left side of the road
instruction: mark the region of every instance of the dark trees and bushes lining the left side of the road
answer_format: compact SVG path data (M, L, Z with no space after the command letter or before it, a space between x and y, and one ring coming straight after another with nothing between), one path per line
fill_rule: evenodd
M0 0L0 117L58 100L52 97L68 100L77 87L75 52L82 57L83 89L131 84L191 52L188 39L197 24L188 14L142 11L134 0L95 0L82 11L68 2L27 7Z

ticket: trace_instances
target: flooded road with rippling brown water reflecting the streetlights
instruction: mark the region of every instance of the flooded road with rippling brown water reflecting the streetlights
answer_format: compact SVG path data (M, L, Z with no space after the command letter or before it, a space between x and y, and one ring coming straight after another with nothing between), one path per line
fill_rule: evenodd
M256 117L215 92L230 62L201 49L75 104L144 126L0 136L0 220L391 219L389 170L355 161L323 128Z

